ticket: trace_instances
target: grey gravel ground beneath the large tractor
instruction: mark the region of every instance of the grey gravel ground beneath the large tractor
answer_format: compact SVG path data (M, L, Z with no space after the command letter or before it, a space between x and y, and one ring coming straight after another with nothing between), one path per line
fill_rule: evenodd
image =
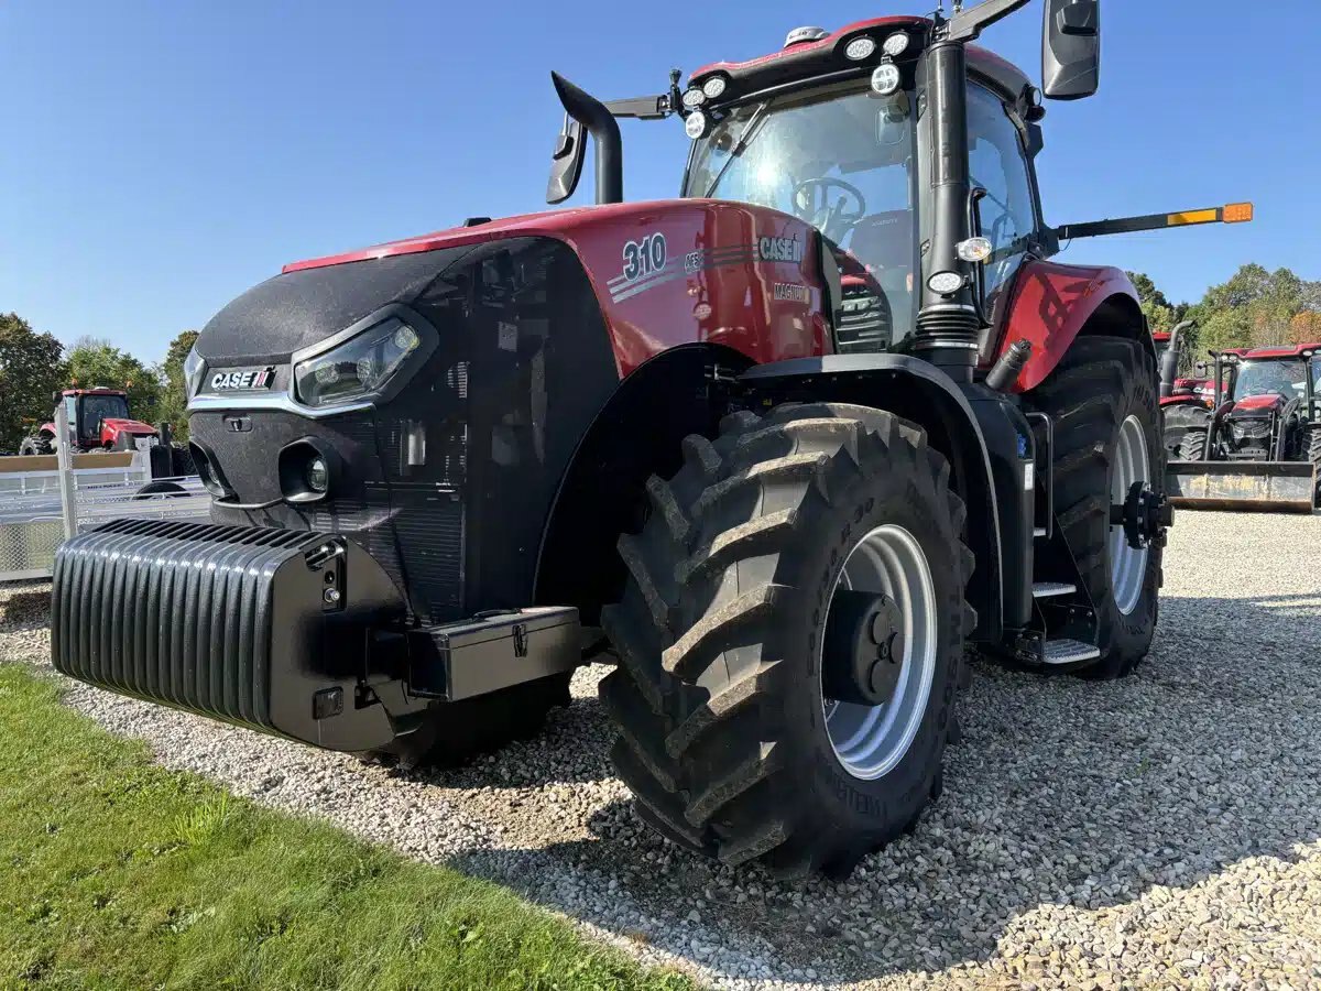
M645 831L605 669L536 740L399 774L83 686L160 760L498 879L720 987L1321 986L1321 517L1182 513L1156 646L1122 683L979 663L945 797L847 883L777 884ZM48 665L4 603L0 658Z

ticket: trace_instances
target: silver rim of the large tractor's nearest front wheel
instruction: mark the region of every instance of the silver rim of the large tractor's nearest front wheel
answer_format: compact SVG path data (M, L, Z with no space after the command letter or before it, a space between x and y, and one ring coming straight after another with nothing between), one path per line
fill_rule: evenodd
M904 657L889 702L863 706L822 694L826 732L835 757L855 778L876 781L904 758L926 715L935 677L935 585L913 534L886 525L872 530L849 551L835 589L884 592L898 604L904 617ZM824 658L818 661L820 667Z

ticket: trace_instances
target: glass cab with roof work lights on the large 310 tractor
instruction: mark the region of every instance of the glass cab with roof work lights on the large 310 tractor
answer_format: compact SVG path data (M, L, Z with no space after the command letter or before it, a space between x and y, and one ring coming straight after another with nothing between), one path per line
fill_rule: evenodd
M801 28L777 54L699 69L682 98L694 137L683 196L766 206L815 227L840 272L844 353L904 350L915 330L934 210L934 136L918 112L930 28L906 17L830 34ZM975 226L989 242L993 293L1041 231L1040 92L989 52L971 48L968 61Z

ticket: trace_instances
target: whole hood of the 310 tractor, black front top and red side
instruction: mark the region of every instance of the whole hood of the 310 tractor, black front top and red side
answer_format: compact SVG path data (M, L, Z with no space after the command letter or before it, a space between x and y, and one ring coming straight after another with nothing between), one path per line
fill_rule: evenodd
M608 203L474 218L291 263L202 329L197 354L206 371L197 395L285 394L295 361L387 307L416 309L419 300L457 297L474 285L532 279L506 271L517 246L531 242L561 244L576 258L622 374L690 341L773 361L820 353L827 337L820 238L802 219L716 200ZM448 338L464 333L464 322L450 317L435 330Z

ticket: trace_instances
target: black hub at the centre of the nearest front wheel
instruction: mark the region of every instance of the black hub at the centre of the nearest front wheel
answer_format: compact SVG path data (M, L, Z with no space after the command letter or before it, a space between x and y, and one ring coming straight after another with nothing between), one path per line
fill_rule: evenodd
M889 702L904 662L904 613L884 593L840 589L826 620L827 696L859 706Z

